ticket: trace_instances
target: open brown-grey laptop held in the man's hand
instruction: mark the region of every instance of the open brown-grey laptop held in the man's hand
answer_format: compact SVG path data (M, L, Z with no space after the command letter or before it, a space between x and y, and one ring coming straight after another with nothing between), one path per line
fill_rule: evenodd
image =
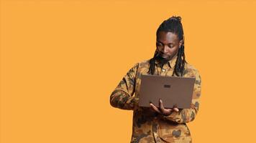
M140 107L150 107L150 102L159 107L162 99L165 108L191 108L195 77L163 77L142 74L140 84Z

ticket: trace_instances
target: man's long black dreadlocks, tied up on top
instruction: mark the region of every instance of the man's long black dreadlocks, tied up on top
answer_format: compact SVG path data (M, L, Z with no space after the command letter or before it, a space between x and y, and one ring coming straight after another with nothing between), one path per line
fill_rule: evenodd
M160 31L170 31L173 32L178 36L179 41L183 39L183 44L178 49L177 60L175 62L175 67L173 71L174 74L178 77L183 77L183 71L185 63L187 63L185 59L185 52L184 52L184 36L183 36L183 26L181 24L181 17L180 16L172 16L169 19L163 21L162 24L157 29L156 35L158 36ZM155 72L155 60L158 56L157 50L155 50L155 54L150 59L150 69L147 71L147 74L154 74Z

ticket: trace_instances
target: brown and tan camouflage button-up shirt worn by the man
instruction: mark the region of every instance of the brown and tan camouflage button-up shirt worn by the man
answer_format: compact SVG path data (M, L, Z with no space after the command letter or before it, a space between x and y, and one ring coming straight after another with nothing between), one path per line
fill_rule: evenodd
M155 74L172 76L177 56L163 65L163 69L155 61ZM191 64L185 65L183 77L196 77L193 99L190 109L179 109L179 112L165 116L153 112L150 107L138 107L140 99L141 75L147 74L150 59L141 61L129 69L110 96L112 107L133 110L131 142L192 142L191 132L186 123L195 119L199 109L201 95L201 77ZM165 103L165 101L163 101Z

